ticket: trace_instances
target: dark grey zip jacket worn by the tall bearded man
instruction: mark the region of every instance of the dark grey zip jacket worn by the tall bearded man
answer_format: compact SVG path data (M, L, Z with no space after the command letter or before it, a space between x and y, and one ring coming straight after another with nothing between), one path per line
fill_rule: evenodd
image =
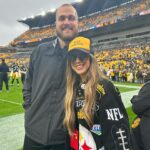
M65 141L63 128L66 49L57 40L39 45L31 54L23 96L25 133L41 144Z

